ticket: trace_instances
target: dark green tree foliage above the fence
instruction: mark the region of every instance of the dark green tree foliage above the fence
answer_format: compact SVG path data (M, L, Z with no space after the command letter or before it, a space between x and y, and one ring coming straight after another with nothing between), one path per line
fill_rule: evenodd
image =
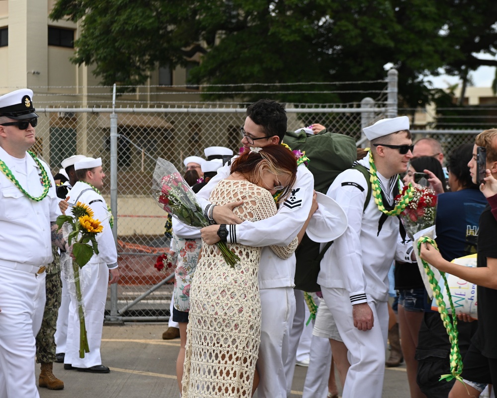
M496 15L488 0L58 0L51 18L81 20L73 61L95 64L106 85L143 84L157 64L201 52L191 83L220 85L206 99L255 100L256 83L299 82L308 84L271 90L292 102L351 101L367 94L344 85L317 94L311 82L382 80L391 62L415 106L430 99L427 75L497 65L474 55L496 53ZM223 87L232 84L243 86Z

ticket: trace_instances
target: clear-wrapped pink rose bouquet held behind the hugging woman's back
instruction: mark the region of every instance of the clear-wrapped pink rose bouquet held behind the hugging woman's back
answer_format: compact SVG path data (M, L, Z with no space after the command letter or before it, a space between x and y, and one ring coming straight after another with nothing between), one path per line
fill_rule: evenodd
M174 165L158 158L154 170L152 191L159 206L185 225L195 228L206 227L209 221L197 202L195 193L184 181ZM216 243L228 265L235 267L240 258L233 253L226 242Z

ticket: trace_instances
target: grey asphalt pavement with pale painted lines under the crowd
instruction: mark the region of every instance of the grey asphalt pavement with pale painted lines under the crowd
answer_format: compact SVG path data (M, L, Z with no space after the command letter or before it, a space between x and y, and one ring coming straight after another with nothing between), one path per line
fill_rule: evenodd
M179 339L163 340L162 333L166 328L167 323L105 325L101 354L102 363L110 368L110 373L92 374L64 370L63 364L56 363L54 374L64 381L64 390L39 388L40 397L179 398L176 381ZM36 368L38 384L39 365L36 365ZM306 372L307 368L296 367L289 398L302 397ZM386 368L383 398L409 397L405 365Z

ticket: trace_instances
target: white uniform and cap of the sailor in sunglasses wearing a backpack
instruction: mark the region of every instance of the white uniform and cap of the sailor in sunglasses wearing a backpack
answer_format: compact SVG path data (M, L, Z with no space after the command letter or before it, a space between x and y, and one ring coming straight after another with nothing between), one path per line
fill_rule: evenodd
M364 129L366 136L373 139L409 129L407 117L395 119L388 119L393 121L387 120L374 133ZM358 163L369 170L368 156ZM399 193L397 175L390 179L377 175L385 199L393 204ZM369 181L363 174L353 169L339 174L331 184L327 195L345 210L348 228L326 252L318 276L325 302L349 351L344 398L382 396L388 333L388 271L394 258L411 261L412 246L400 243L398 217L388 216L379 231L382 212L373 195L364 210L367 184ZM365 302L373 312L374 326L361 331L354 326L352 305Z

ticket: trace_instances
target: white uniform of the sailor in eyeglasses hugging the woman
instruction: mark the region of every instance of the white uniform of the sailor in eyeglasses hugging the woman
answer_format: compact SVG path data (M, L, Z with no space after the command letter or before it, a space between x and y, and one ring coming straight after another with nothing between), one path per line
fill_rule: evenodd
M230 166L226 164L218 169L218 174L197 194L206 211L210 207L207 200L212 189L229 175ZM228 243L264 246L258 273L261 303L261 332L257 359L260 375L257 388L259 398L286 398L284 364L288 356L289 333L295 314L295 255L284 260L275 255L268 246L286 246L295 239L309 215L313 192L314 177L302 164L297 168L297 180L291 196L280 204L274 216L257 222L244 221L238 225L228 225Z

